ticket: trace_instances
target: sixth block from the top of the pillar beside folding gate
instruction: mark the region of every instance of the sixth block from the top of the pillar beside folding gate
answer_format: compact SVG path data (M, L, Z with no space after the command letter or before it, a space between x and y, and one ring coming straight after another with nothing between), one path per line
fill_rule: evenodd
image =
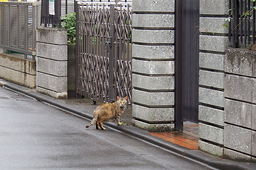
M132 74L132 85L147 90L174 90L174 77L151 77Z

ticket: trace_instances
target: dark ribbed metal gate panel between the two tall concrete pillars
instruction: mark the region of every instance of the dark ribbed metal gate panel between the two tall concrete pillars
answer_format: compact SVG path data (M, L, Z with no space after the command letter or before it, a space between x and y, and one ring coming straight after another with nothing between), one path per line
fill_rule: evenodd
M175 128L198 123L199 0L176 0Z

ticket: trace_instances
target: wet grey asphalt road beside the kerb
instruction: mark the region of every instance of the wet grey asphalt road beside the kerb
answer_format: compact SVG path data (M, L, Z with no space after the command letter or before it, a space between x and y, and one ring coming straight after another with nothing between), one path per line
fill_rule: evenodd
M0 170L207 170L0 87Z

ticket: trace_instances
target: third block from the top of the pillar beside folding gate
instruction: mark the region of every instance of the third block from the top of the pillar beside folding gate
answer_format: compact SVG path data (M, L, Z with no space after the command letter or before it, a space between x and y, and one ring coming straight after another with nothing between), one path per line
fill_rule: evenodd
M148 44L173 44L173 30L132 30L132 41Z

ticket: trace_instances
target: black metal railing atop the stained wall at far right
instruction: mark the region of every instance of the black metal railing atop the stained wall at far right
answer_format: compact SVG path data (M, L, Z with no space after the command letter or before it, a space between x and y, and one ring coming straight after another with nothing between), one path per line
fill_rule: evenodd
M252 0L229 0L229 40L233 47L255 44L255 6Z

